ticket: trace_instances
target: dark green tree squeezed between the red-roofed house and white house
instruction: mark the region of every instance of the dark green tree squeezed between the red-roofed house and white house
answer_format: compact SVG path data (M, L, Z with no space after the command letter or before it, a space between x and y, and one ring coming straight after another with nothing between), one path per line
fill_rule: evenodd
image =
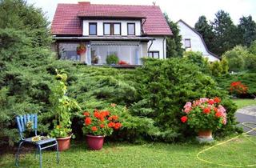
M164 13L164 16L173 32L171 37L166 38L166 58L182 57L184 50L182 49L182 36L179 34L178 25L172 22L166 13Z

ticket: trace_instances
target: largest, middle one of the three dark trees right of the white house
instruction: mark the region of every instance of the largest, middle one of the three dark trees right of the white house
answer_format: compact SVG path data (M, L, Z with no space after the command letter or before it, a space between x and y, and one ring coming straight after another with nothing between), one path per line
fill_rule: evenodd
M214 46L212 51L218 55L222 55L240 43L240 34L238 33L237 26L232 22L230 14L219 10L215 14L215 17L214 22L211 22L214 28Z

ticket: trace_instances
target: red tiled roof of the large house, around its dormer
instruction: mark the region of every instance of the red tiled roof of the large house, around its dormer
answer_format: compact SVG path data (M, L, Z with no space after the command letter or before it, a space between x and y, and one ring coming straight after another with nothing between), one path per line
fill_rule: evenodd
M82 35L79 17L146 18L142 28L147 35L171 35L159 6L99 5L90 3L58 4L51 25L56 35Z

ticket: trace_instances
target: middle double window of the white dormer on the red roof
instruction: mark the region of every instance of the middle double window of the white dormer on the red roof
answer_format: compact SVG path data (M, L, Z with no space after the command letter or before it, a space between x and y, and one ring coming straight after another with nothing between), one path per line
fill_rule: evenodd
M121 35L121 22L104 22L104 35Z

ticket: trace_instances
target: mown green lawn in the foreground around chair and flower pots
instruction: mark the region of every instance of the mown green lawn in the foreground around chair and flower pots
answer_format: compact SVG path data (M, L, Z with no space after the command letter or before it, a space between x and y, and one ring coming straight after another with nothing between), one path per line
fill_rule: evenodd
M201 154L200 157L216 163L232 165L256 164L256 138L241 137ZM42 154L43 167L222 167L198 161L199 151L210 145L146 143L106 143L102 150L87 150L83 142L75 142L70 150L61 152L60 163L56 163L53 151ZM0 167L15 167L14 154L4 154ZM34 152L22 154L22 167L38 167Z

